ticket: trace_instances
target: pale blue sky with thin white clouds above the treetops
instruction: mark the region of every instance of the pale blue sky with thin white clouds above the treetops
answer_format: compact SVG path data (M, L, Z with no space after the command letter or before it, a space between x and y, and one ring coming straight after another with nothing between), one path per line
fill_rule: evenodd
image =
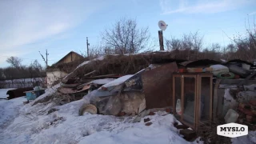
M246 34L245 23L253 26L256 0L2 0L0 67L10 66L10 56L22 58L23 65L37 59L45 66L39 51L45 56L48 50L49 65L71 50L86 53L86 37L90 46L99 46L102 31L123 17L148 26L152 42L158 42L163 20L164 38L198 31L205 46L226 46L234 35Z

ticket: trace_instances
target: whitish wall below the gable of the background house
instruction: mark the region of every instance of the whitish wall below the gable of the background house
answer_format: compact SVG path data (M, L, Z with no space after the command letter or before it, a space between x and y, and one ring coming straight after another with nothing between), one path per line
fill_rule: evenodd
M66 75L67 74L65 72L60 70L47 71L47 87L49 88L55 81L59 80L60 78L64 78Z

